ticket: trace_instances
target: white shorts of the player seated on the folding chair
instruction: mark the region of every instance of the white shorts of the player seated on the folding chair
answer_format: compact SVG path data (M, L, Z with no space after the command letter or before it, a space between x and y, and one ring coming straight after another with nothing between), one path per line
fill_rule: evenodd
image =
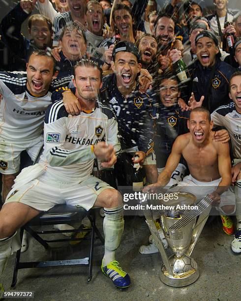
M40 211L48 211L60 204L90 210L98 195L107 188L114 189L92 176L81 183L71 184L56 181L44 173L39 178L22 185L20 189L13 188L7 195L5 204L18 202Z

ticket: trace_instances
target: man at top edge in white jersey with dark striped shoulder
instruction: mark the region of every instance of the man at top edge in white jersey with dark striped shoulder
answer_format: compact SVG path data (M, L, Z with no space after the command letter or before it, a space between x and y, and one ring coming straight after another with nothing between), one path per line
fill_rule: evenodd
M58 14L54 19L54 46L58 46L61 29L69 22L76 21L82 30L86 30L87 0L68 0L69 11Z

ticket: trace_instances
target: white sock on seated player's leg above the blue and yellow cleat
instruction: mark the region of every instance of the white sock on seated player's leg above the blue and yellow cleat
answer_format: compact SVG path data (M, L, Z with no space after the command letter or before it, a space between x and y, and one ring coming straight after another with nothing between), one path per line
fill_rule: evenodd
M115 260L116 249L121 242L121 236L124 230L123 205L111 209L104 208L104 213L105 254L103 257L103 265L106 266Z

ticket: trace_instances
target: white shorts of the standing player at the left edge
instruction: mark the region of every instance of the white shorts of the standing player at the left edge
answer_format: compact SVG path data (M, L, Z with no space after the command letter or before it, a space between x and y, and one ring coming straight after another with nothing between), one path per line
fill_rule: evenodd
M42 137L28 142L18 141L16 138L16 143L10 143L6 139L0 138L0 173L12 175L19 172L21 152L27 151L34 162L42 146Z

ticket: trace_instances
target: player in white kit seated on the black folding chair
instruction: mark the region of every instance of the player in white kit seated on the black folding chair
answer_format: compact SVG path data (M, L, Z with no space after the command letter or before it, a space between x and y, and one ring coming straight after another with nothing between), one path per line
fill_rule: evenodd
M11 236L40 211L57 204L86 210L104 207L101 269L114 285L127 287L130 277L115 260L124 229L122 198L117 190L90 175L95 157L104 161L105 168L116 162L120 150L117 121L109 108L96 104L102 73L95 62L80 60L73 82L82 112L68 115L62 101L48 108L40 161L20 173L0 211L0 275L11 254Z

